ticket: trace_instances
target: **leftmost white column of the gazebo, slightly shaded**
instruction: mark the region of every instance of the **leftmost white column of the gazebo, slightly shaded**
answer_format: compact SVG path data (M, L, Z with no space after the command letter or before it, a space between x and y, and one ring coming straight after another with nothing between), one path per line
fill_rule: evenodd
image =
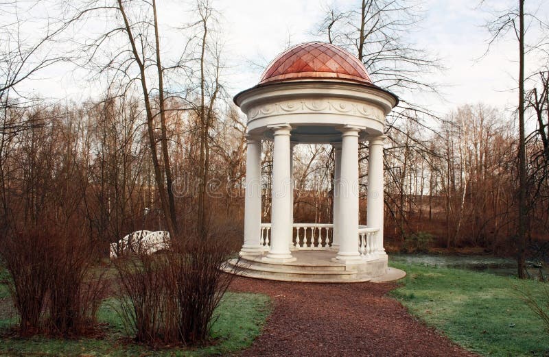
M244 197L244 245L240 255L263 254L261 234L261 139L246 136L246 197Z

